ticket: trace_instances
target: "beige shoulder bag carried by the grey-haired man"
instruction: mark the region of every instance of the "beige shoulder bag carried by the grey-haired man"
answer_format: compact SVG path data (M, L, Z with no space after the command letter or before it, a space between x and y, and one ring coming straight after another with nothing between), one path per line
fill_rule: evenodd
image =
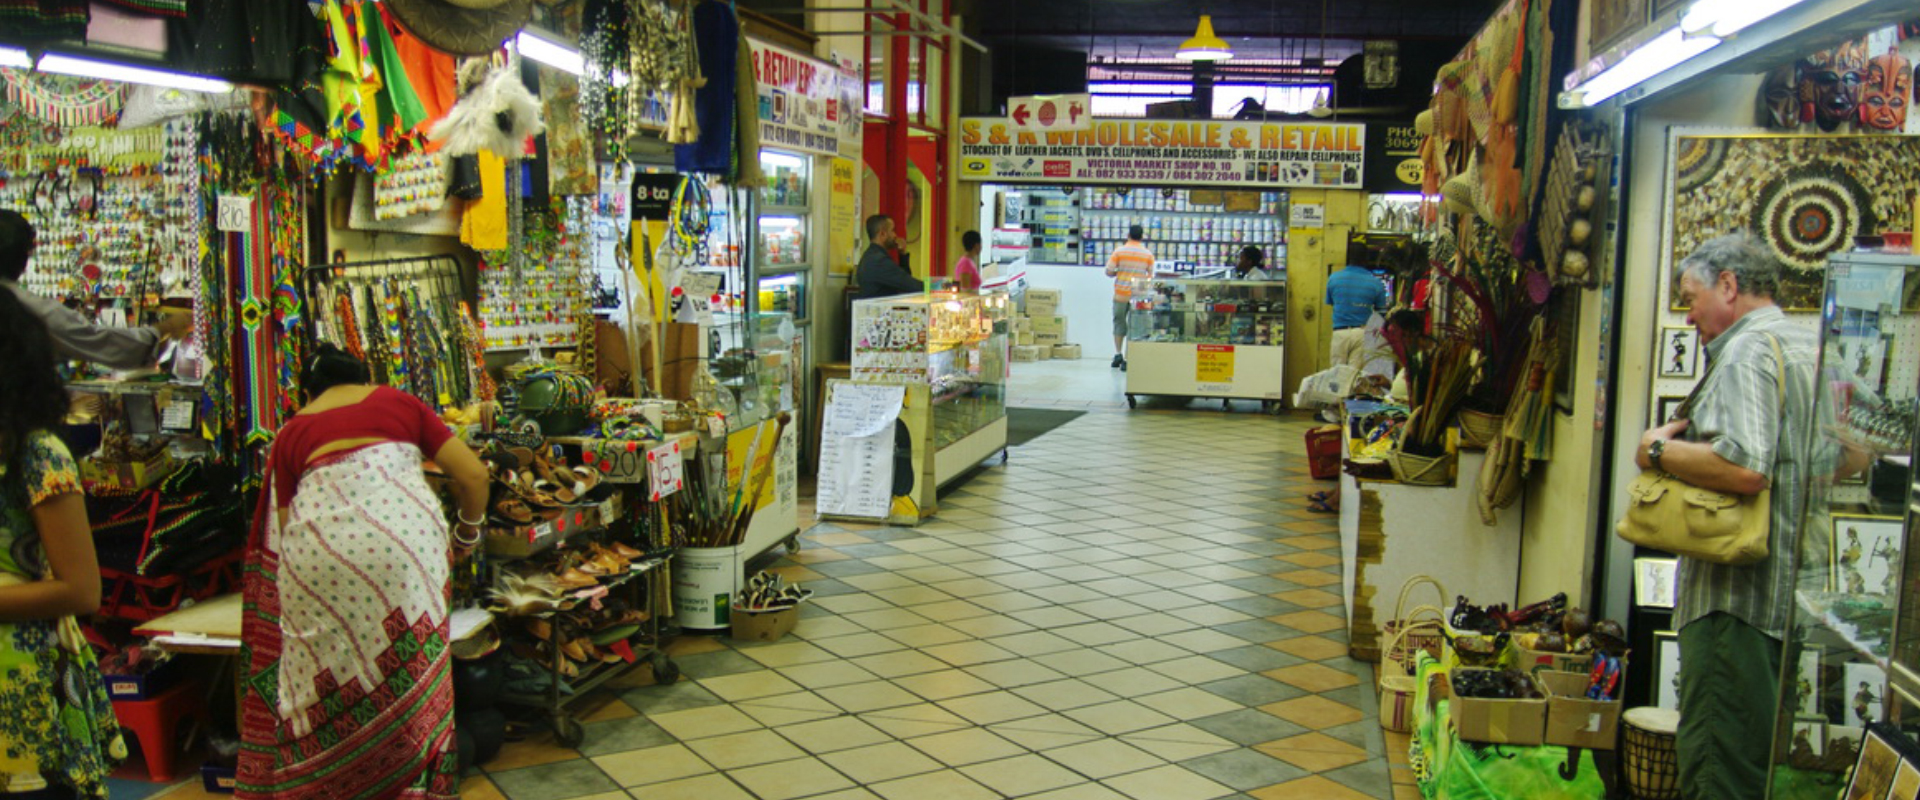
M1766 334L1774 345L1774 382L1780 389L1780 409L1786 411L1786 357L1780 340ZM1709 366L1707 374L1713 374ZM1703 376L1699 386L1705 386ZM1697 391L1697 388L1695 388ZM1693 405L1688 397L1682 409ZM1782 420L1782 428L1786 422ZM1776 439L1778 441L1778 439ZM1766 537L1772 529L1772 489L1757 495L1734 495L1701 489L1663 470L1645 470L1626 487L1626 516L1615 531L1640 547L1699 558L1715 564L1753 564L1766 558Z

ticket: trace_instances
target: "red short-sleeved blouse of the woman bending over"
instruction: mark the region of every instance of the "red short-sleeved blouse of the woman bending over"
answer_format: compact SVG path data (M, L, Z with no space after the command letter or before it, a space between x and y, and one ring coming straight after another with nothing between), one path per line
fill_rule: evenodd
M453 437L440 414L419 397L392 386L376 386L367 399L313 414L294 414L273 439L275 505L294 503L300 476L307 472L313 451L342 439L411 441L420 455L432 459ZM365 447L372 447L371 443ZM340 453L351 453L349 447ZM334 453L330 453L334 455Z

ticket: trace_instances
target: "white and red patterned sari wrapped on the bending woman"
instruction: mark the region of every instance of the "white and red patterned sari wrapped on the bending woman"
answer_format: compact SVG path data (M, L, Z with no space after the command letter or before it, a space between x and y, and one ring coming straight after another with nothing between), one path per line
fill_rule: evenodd
M411 443L305 466L244 581L240 798L453 798L447 522Z

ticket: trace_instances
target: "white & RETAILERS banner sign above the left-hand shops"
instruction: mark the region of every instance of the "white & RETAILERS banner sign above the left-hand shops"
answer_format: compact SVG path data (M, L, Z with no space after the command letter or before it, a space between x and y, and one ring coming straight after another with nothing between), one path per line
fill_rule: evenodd
M747 40L760 94L760 146L839 155L843 136L860 134L860 84L837 65Z

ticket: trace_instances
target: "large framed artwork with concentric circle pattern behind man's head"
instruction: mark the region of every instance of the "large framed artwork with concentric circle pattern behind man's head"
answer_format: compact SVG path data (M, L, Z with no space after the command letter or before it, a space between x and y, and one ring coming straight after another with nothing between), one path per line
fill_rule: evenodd
M1596 36L1599 38L1599 36ZM1711 238L1751 230L1780 259L1774 299L1818 311L1826 259L1853 238L1905 230L1920 192L1920 136L1674 136L1668 307L1684 311L1672 267Z

